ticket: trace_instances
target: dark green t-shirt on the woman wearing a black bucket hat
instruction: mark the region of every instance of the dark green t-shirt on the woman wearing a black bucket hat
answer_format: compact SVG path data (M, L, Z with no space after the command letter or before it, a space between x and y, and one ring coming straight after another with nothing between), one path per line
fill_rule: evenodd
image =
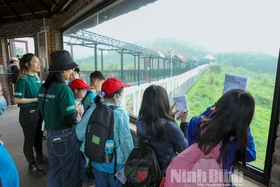
M42 110L46 88L41 86L38 93L38 106L44 116L45 126L49 130L63 130L71 126L64 123L64 116L76 113L75 98L69 86L53 82L46 94L44 111ZM44 112L44 113L43 113Z

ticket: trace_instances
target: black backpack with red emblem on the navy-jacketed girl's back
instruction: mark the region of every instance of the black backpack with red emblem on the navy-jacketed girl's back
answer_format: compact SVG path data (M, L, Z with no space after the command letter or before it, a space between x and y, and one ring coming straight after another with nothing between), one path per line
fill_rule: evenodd
M124 165L124 173L128 187L159 186L163 173L148 140L141 140L131 151Z

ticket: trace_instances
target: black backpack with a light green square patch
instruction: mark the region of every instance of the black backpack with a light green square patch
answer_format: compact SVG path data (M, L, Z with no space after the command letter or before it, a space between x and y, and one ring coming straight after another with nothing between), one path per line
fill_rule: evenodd
M115 108L115 105L102 104L90 116L85 133L85 155L90 161L105 163L105 143L108 139L114 139Z

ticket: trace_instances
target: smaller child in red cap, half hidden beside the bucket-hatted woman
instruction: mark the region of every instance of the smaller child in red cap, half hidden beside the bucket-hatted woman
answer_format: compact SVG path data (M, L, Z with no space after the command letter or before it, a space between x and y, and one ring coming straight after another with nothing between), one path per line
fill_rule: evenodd
M75 104L76 105L80 105L80 107L78 107L78 115L77 115L77 120L80 121L82 119L83 113L84 113L84 107L82 104L82 99L86 96L87 93L87 89L90 89L92 87L90 87L89 85L86 84L86 82L83 79L74 79L71 83L70 83L70 88L74 93L75 96Z

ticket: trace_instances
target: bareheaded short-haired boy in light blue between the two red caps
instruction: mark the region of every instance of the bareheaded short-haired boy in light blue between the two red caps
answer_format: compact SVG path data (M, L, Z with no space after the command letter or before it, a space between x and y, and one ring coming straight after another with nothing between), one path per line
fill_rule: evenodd
M94 103L94 98L97 95L97 91L101 90L101 86L105 81L104 75L100 71L94 71L90 74L90 86L91 89L87 90L87 94L82 100L84 104L84 110L87 110L91 104Z

